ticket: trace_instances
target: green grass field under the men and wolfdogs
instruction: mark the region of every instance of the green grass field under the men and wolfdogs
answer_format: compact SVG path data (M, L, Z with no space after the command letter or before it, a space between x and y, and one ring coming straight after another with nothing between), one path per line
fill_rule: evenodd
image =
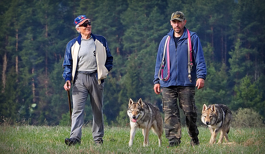
M105 126L104 144L95 146L90 126L83 127L80 145L68 147L64 139L69 137L70 127L62 126L11 126L1 125L0 153L265 153L265 128L231 128L229 143L210 145L210 131L199 127L200 145L192 147L187 128L182 129L182 143L179 147L166 148L168 141L163 133L162 146L158 147L158 137L151 132L150 145L143 147L142 131L138 129L131 148L128 147L130 126ZM219 136L218 136L219 138Z

